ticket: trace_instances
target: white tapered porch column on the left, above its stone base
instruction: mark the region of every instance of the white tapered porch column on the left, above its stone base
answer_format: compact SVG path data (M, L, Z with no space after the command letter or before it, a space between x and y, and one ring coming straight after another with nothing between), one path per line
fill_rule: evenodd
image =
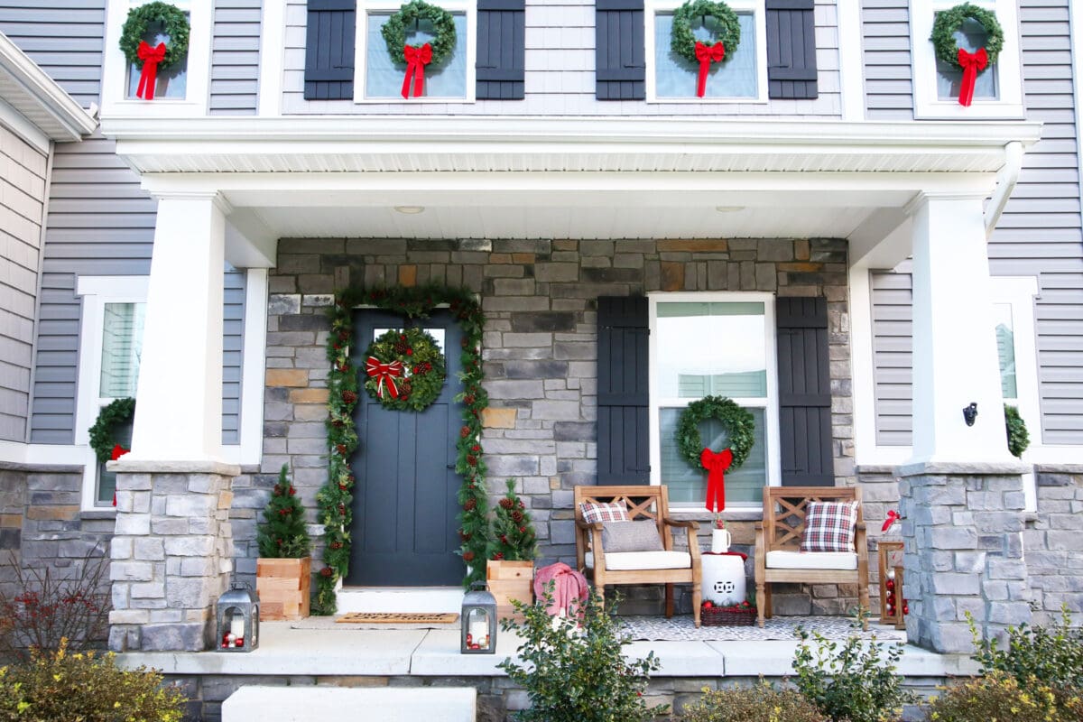
M224 208L211 192L158 198L126 461L220 460Z

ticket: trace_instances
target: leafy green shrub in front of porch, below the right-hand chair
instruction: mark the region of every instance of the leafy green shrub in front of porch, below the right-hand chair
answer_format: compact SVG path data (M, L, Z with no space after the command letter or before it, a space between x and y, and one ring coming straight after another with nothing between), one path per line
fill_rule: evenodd
M854 620L860 629L861 620ZM884 722L897 719L914 695L902 688L895 673L902 645L887 645L873 634L862 640L856 632L839 644L820 632L798 628L801 643L794 656L797 688L832 720Z

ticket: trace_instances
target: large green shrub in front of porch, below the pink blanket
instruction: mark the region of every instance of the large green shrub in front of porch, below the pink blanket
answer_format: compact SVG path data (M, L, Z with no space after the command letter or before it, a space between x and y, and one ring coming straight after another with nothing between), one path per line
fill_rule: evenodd
M523 638L519 658L525 664L509 658L497 665L530 696L531 708L517 716L520 722L636 722L664 713L643 699L649 675L661 662L653 652L645 659L624 658L631 638L619 633L612 607L603 607L591 590L576 628L571 619L554 621L548 615L551 593L550 583L544 601L512 602L525 620L501 622L505 631Z

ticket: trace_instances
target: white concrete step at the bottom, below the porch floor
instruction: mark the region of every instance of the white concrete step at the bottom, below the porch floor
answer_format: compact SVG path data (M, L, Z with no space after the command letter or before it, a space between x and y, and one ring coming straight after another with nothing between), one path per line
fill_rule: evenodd
M247 686L222 703L222 722L474 722L473 687Z

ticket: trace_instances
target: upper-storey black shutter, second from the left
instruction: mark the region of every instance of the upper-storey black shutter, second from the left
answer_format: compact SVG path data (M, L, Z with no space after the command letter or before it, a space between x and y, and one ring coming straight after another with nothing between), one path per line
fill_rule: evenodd
M478 0L479 101L523 100L525 0Z

